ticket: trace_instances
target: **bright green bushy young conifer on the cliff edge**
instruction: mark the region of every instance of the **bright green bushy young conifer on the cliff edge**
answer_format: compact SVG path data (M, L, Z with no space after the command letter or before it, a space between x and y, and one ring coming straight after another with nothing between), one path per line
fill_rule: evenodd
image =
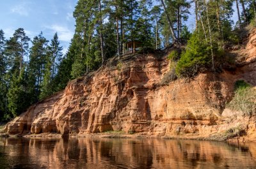
M211 48L198 34L194 33L188 41L186 51L177 62L176 73L179 77L191 77L211 63Z

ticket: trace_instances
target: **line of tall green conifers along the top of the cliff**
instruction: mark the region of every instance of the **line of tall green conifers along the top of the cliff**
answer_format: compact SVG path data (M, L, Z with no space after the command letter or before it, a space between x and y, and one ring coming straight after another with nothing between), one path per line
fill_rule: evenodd
M242 6L242 10L234 6ZM41 32L32 40L19 28L6 40L0 31L0 117L8 121L30 105L65 89L68 81L104 66L113 56L141 53L183 44L169 55L168 78L220 72L225 52L243 44L241 30L255 24L255 1L90 1L79 0L73 16L76 31L67 54L58 35L51 41ZM193 11L193 13L189 13ZM195 12L194 12L195 11ZM237 23L231 19L234 12ZM189 31L188 20L195 18ZM134 48L134 42L139 43ZM184 44L187 44L184 47Z

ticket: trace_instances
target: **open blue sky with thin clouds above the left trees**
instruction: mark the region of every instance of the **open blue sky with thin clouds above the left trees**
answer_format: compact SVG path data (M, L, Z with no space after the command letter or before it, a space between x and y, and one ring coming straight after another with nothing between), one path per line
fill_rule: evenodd
M40 31L47 40L58 32L65 53L75 30L72 15L76 3L77 0L0 0L0 29L6 39L19 27L31 40Z

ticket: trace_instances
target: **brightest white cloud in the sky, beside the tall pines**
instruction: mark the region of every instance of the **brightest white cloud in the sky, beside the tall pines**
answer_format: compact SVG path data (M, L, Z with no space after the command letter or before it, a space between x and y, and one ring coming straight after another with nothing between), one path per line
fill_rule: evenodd
M67 41L73 38L74 32L70 31L68 27L60 26L60 25L52 25L46 26L47 29L51 29L54 33L58 33L58 37L60 41Z

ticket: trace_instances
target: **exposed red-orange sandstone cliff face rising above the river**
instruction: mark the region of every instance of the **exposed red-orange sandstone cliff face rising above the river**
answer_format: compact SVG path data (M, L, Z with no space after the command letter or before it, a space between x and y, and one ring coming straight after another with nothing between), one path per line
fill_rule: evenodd
M250 45L248 48L252 50ZM243 78L256 84L255 62L240 68L238 75L228 71L220 75L205 73L193 80L161 85L170 66L165 57L157 56L128 56L119 63L112 59L92 75L73 80L64 91L33 105L4 130L10 134L83 135L123 130L209 136L248 124L250 119L244 121L243 115L223 110L232 98L236 80Z

